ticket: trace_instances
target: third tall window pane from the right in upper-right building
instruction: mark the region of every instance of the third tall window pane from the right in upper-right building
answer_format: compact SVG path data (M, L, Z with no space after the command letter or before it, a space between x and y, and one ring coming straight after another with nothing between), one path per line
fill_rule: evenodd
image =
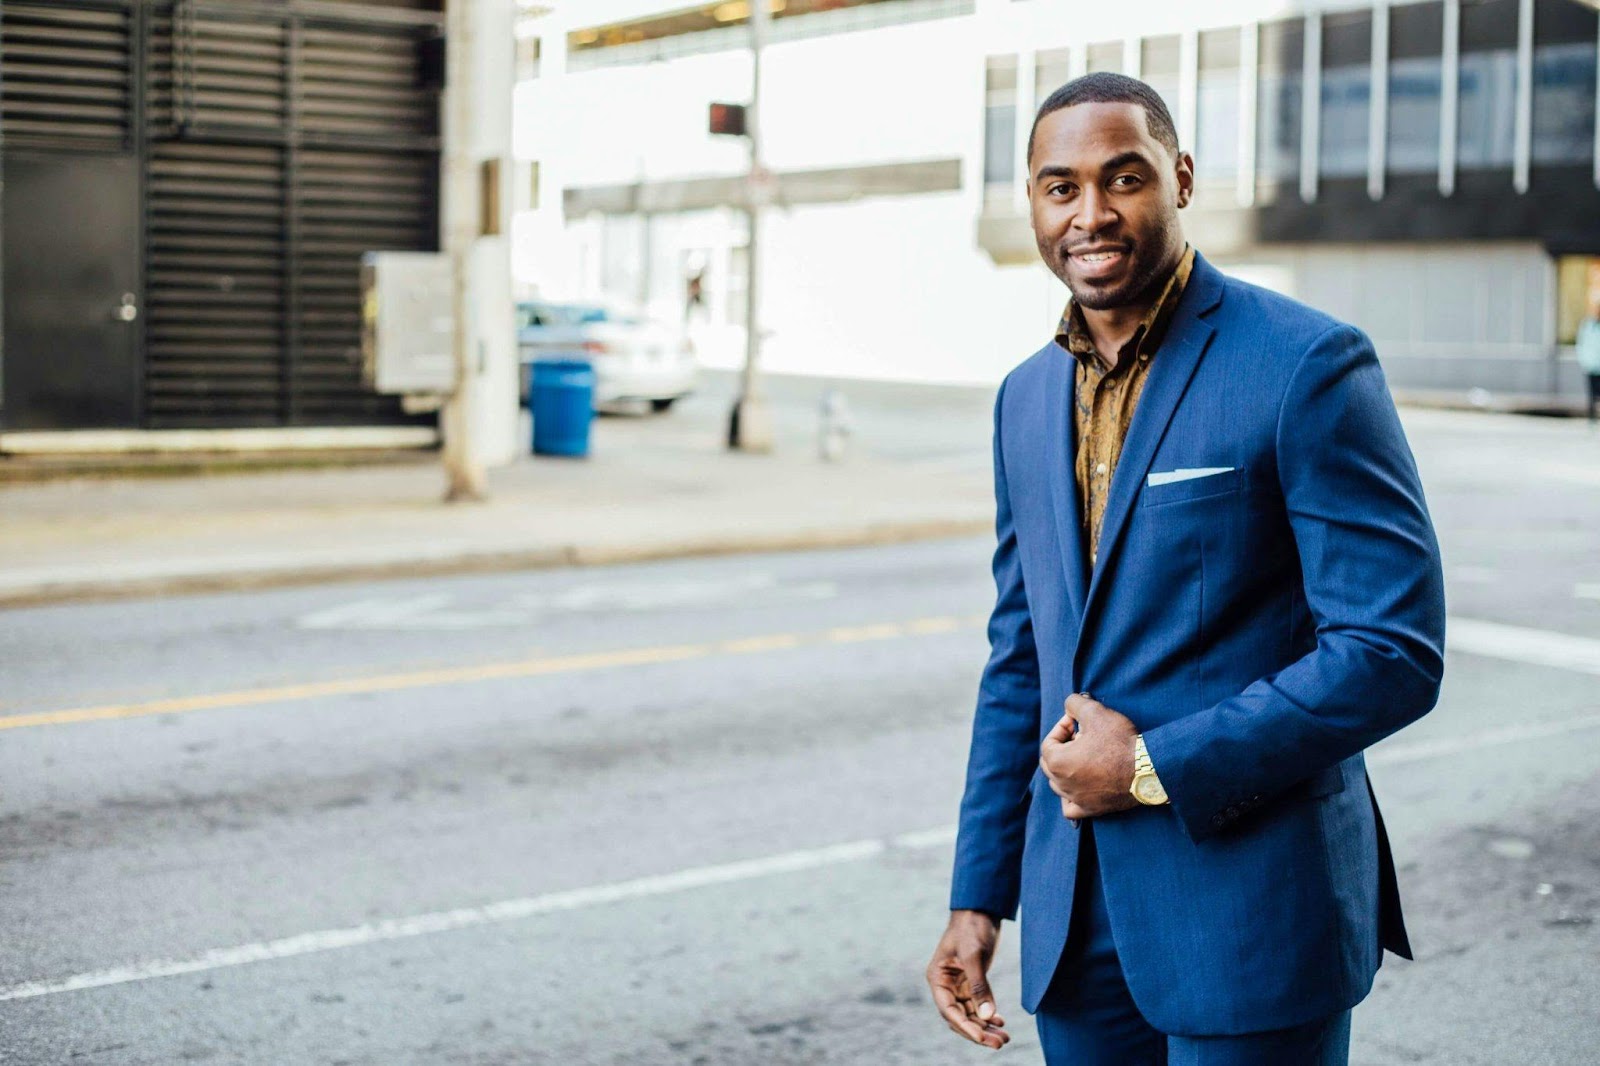
M1438 173L1440 99L1445 85L1445 5L1389 11L1389 141L1392 174Z

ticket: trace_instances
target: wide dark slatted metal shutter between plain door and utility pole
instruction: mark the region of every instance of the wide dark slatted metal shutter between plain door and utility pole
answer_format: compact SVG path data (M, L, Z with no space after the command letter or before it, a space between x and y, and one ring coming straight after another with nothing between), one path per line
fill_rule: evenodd
M363 251L438 246L429 8L152 11L149 426L427 421L360 384L358 271Z

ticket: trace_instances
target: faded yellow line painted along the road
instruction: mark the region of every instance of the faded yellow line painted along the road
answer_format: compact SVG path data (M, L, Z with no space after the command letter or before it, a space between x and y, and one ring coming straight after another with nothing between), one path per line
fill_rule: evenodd
M658 648L627 648L621 651L592 651L587 655L558 655L538 659L514 659L510 663L486 663L437 671L413 671L408 674L381 674L378 677L352 677L347 680L309 682L304 685L277 685L270 688L245 688L200 696L176 696L144 703L112 703L98 707L72 707L67 711L40 711L37 714L0 715L0 730L22 730L38 725L74 725L78 722L110 722L115 719L144 719L157 714L190 714L194 711L226 711L253 707L267 703L298 703L323 696L357 696L406 688L434 688L438 685L464 685L510 677L541 677L546 674L578 674L582 671L614 669L624 666L653 666L659 663L683 663L717 655L757 655L826 643L861 643L866 640L890 640L954 632L973 618L917 618L906 623L878 626L854 626L826 629L813 634L771 634L739 637L709 643L677 643Z

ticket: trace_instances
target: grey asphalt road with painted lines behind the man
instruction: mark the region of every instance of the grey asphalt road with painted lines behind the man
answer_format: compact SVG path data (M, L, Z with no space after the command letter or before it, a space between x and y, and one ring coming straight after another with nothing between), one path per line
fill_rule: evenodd
M1408 421L1453 648L1354 1061L1600 1063L1600 437ZM987 1060L922 986L987 551L0 613L0 1061Z

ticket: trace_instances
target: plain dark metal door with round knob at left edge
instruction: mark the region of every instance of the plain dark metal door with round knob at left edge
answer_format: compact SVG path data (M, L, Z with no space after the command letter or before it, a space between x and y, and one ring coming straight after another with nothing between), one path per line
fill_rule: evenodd
M6 429L139 424L139 165L5 160Z

